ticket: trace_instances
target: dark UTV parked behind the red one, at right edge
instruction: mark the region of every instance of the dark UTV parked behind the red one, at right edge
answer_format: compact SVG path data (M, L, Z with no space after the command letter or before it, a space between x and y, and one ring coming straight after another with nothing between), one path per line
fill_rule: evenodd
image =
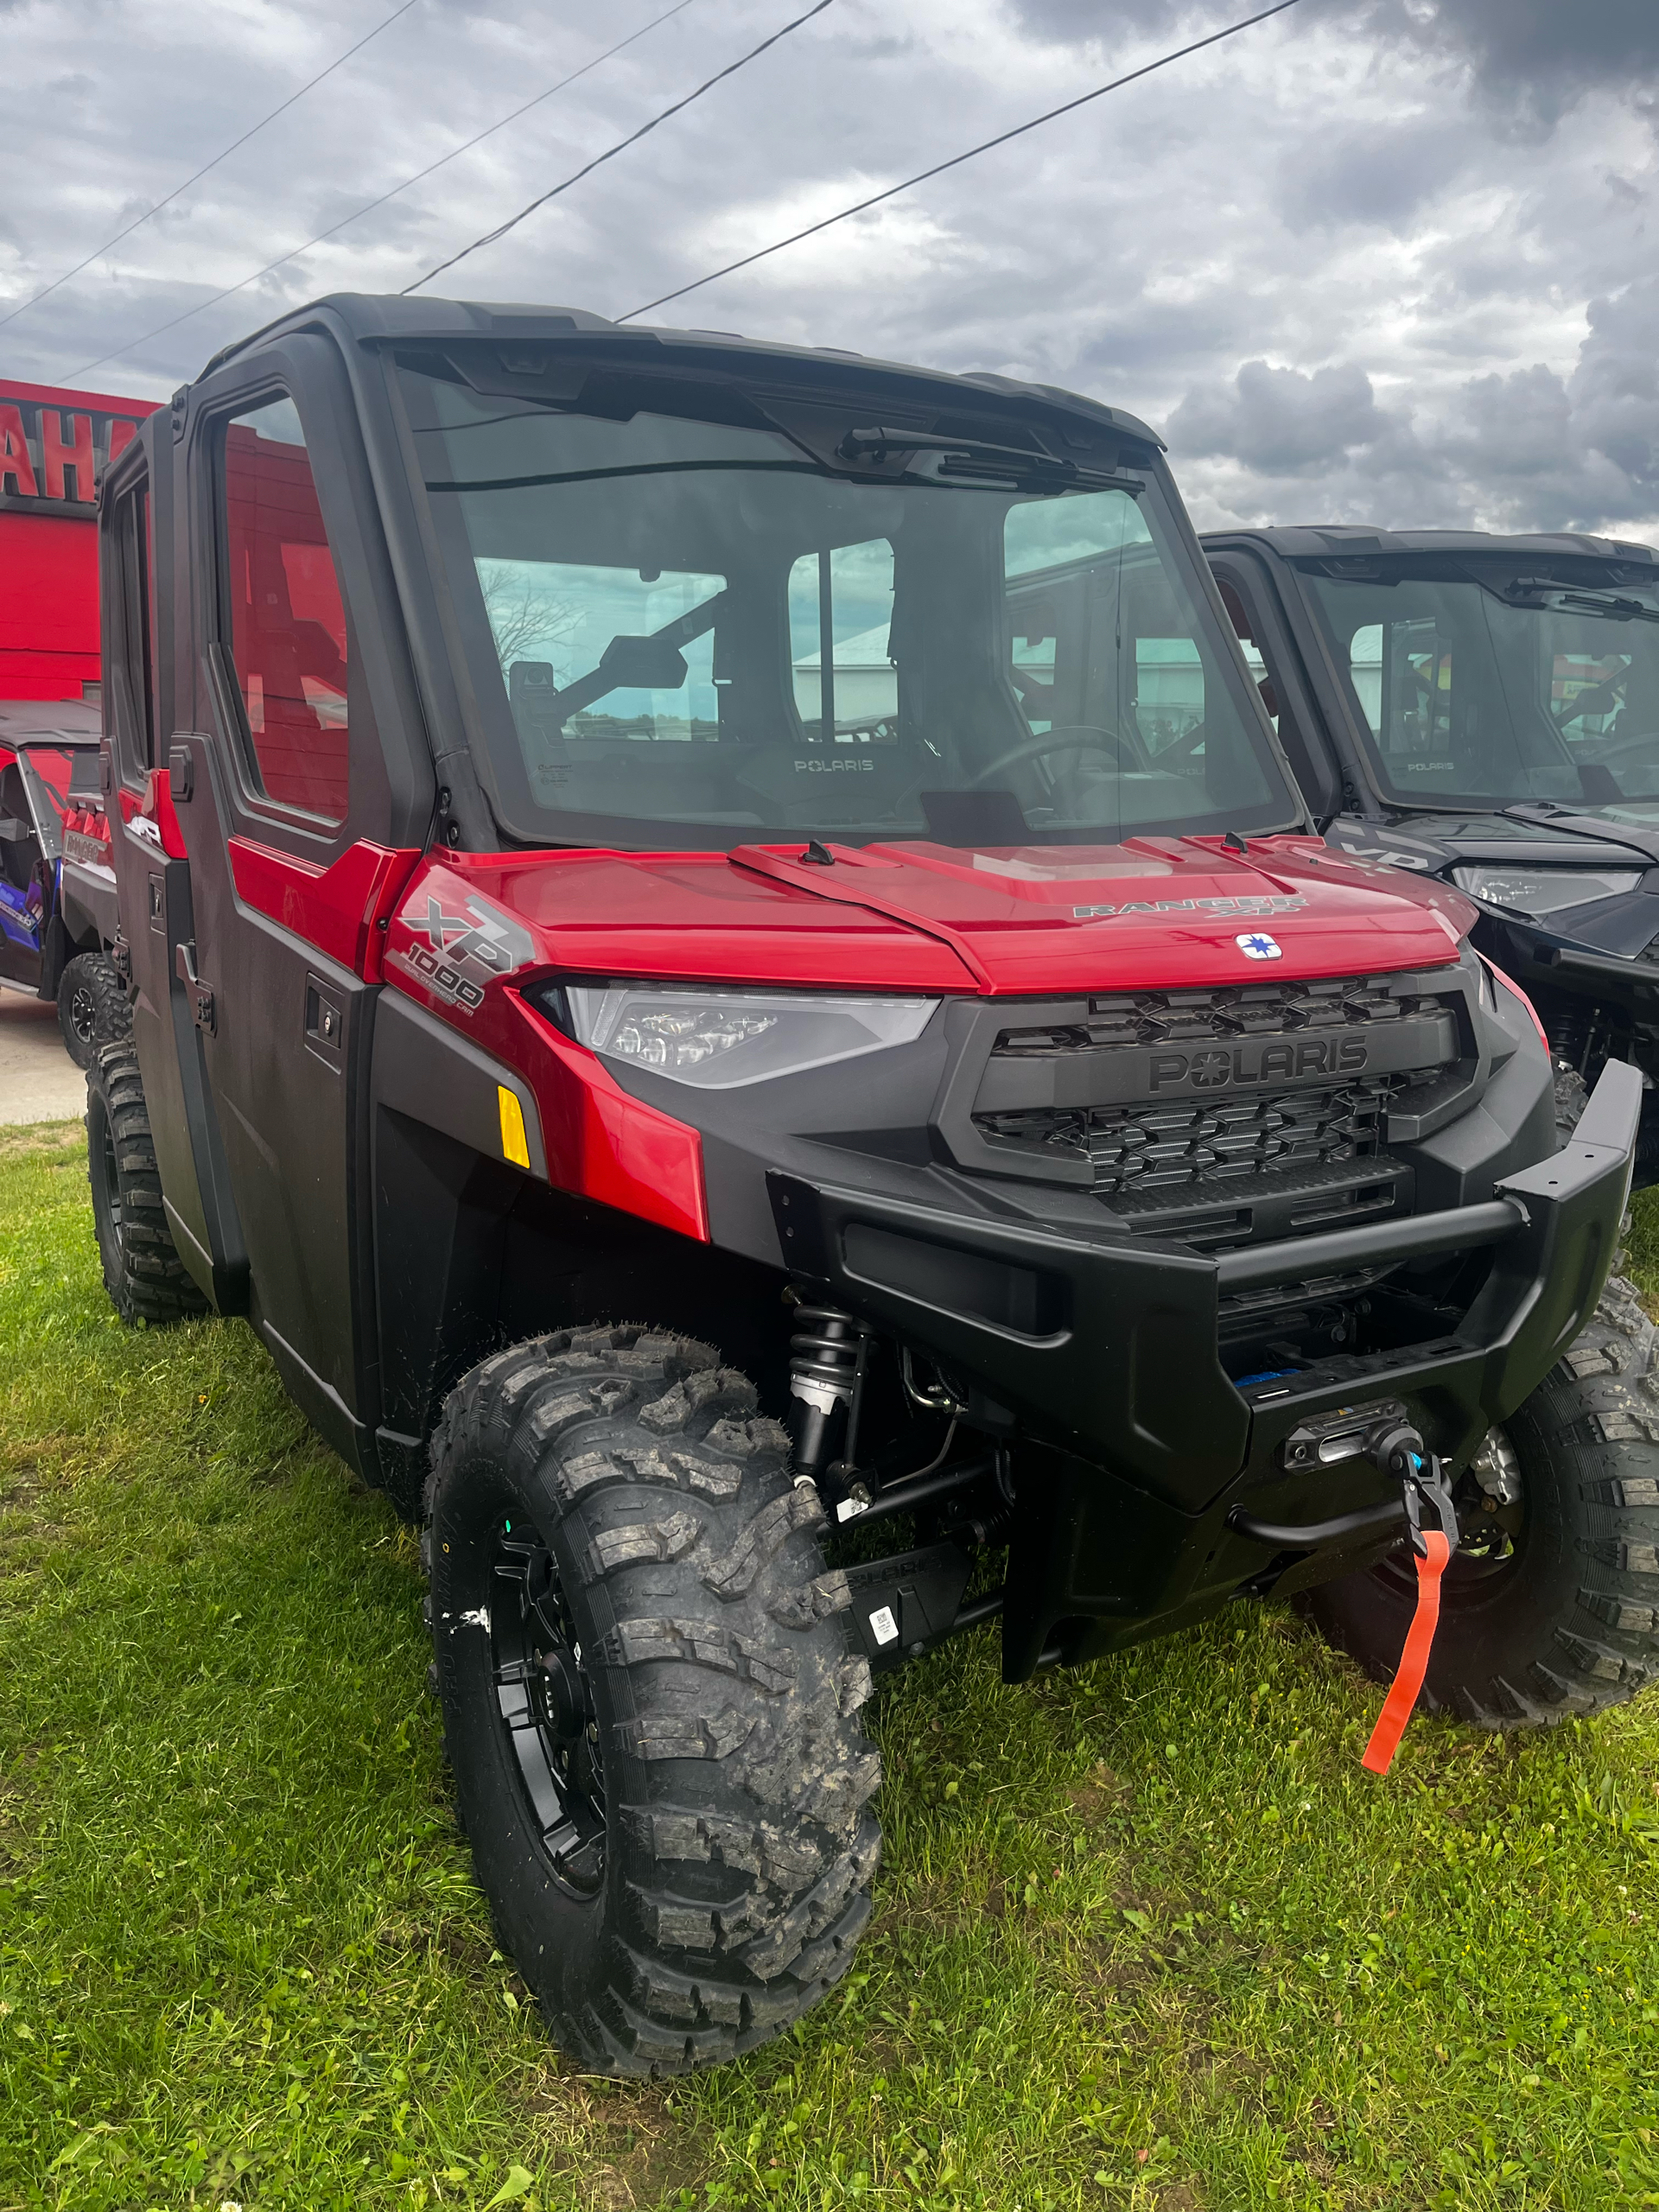
M1352 524L1203 549L1327 841L1480 902L1568 1110L1571 1075L1641 1068L1659 1179L1659 555Z

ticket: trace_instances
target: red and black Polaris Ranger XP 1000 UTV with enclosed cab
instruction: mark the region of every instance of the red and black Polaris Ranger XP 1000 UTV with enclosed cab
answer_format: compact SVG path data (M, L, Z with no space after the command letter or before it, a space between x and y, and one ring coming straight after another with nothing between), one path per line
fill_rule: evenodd
M1655 1515L1480 1460L1595 1312L1639 1077L1557 1150L1475 909L1310 832L1133 416L343 296L102 526L106 1281L246 1314L422 1515L582 2064L845 1971L872 1672L973 1624L1024 1681L1325 1586L1389 1670L1464 1526L1431 1694L1644 1679Z

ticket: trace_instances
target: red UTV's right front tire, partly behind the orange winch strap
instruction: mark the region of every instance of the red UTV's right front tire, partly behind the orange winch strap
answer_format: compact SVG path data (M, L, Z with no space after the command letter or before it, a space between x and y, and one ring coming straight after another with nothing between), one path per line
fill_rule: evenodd
M1655 1349L1632 1285L1615 1276L1566 1358L1504 1422L1522 1482L1513 1555L1447 1568L1425 1708L1480 1728L1542 1728L1659 1679ZM1301 1604L1329 1644L1387 1681L1416 1604L1409 1555L1402 1546Z

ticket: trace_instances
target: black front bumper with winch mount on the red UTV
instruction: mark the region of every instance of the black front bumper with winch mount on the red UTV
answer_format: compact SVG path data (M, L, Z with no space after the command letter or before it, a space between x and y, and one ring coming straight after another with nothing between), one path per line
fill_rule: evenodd
M1004 1670L1020 1679L1055 1632L1066 1657L1086 1657L1199 1617L1261 1577L1272 1562L1225 1524L1241 1500L1276 1522L1376 1502L1383 1478L1363 1462L1283 1469L1285 1438L1314 1416L1398 1398L1449 1464L1467 1464L1595 1310L1641 1093L1637 1071L1610 1062L1573 1139L1500 1181L1489 1203L1219 1256L779 1172L768 1186L794 1270L971 1380L982 1427L1022 1436L1026 1495L1004 1613ZM1221 1365L1228 1296L1480 1245L1491 1270L1449 1336L1254 1385ZM1321 1579L1329 1564L1287 1562L1279 1586Z

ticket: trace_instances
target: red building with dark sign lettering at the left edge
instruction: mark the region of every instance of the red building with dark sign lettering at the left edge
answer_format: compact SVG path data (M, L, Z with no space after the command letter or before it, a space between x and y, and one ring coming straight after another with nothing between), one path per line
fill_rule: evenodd
M97 684L97 480L153 411L0 380L0 699Z

